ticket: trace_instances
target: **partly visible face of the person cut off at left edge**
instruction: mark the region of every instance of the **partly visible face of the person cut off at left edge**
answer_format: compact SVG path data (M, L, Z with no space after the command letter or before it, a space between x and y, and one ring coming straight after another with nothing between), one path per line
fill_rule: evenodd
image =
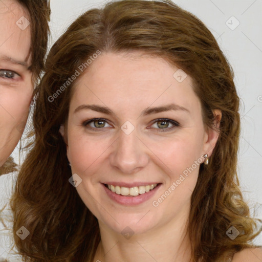
M0 1L0 166L17 145L32 98L30 26L23 8Z

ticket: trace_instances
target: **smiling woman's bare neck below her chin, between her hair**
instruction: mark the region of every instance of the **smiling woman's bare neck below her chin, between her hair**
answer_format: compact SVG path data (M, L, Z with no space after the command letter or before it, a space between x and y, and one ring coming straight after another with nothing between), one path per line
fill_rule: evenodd
M168 224L127 238L99 222L101 242L94 262L190 262L187 218L183 213Z

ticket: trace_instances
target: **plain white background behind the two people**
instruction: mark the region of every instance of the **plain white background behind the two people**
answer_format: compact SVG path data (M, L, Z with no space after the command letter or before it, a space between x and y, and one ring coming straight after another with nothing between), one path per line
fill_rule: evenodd
M173 1L198 16L217 38L235 73L241 97L238 176L252 212L262 219L262 1ZM51 43L84 11L105 1L51 0ZM234 16L235 18L232 18ZM231 28L237 26L234 30ZM231 25L230 25L231 24ZM14 154L17 159L17 154ZM262 236L256 239L262 245Z

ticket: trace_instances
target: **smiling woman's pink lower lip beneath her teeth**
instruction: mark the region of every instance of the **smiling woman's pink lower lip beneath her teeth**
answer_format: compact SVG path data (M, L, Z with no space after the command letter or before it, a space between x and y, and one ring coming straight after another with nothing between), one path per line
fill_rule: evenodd
M158 184L154 189L150 190L149 192L139 194L136 197L126 197L121 194L116 194L113 193L111 190L109 190L104 184L102 184L102 186L104 187L104 190L107 193L108 197L110 197L118 204L126 205L126 206L134 206L134 205L142 204L147 200L149 200L158 191L161 184Z

